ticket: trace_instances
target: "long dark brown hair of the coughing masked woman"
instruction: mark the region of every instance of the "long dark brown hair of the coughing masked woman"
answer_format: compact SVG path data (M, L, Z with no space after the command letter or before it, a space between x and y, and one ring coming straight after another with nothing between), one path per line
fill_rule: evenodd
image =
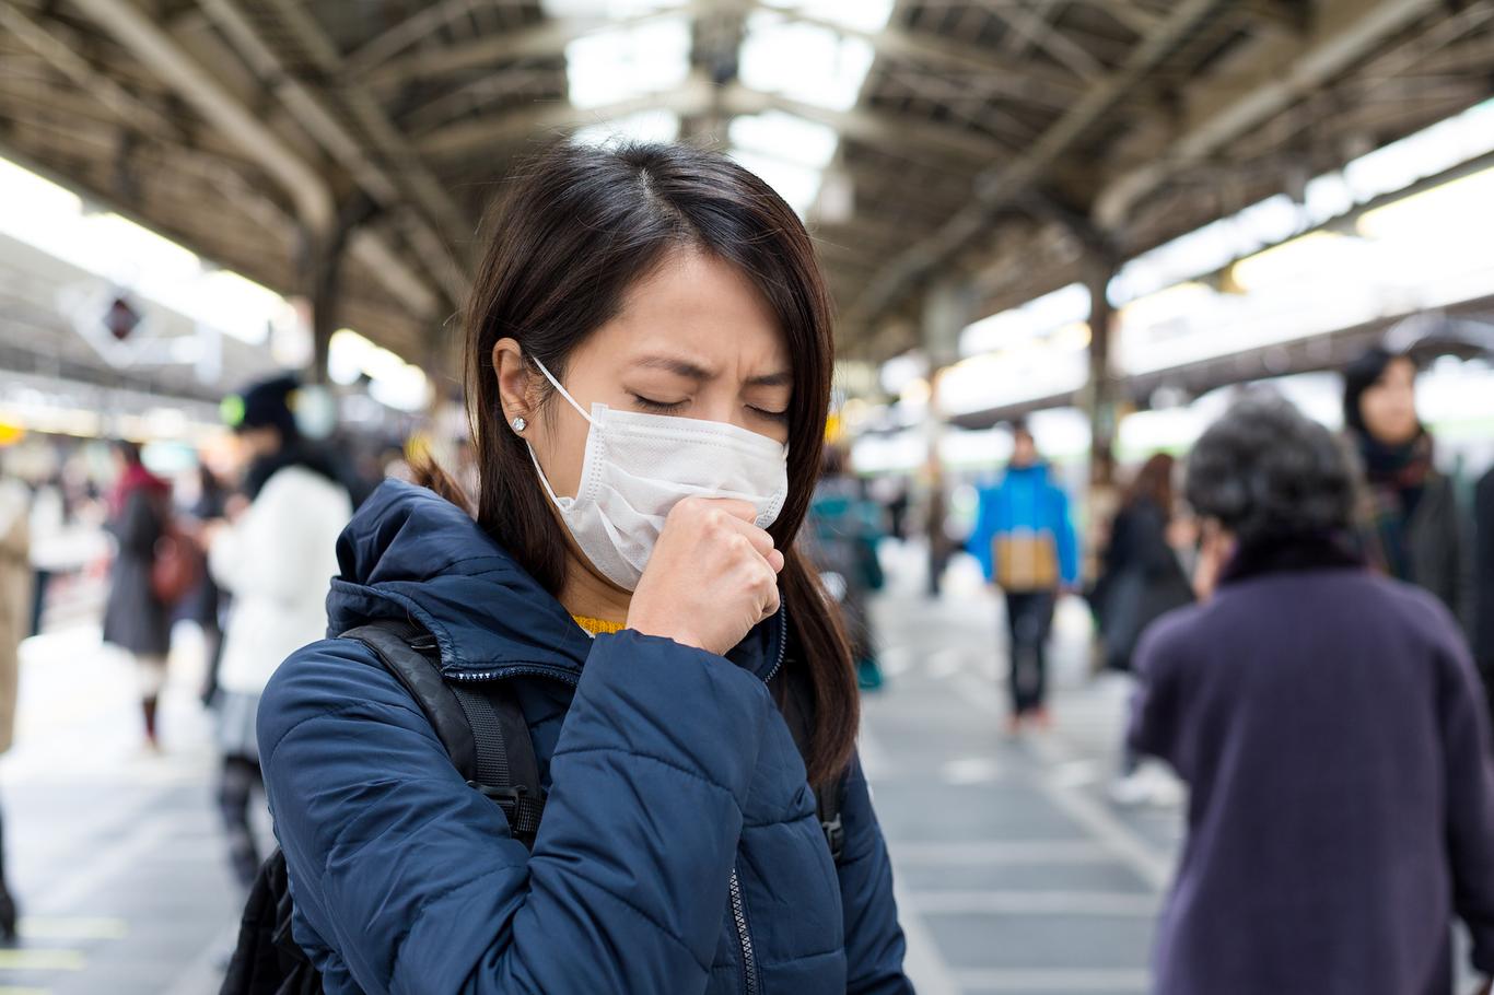
M545 590L565 580L565 539L523 439L503 429L493 345L512 338L557 379L627 291L677 251L735 266L757 288L793 360L789 496L768 529L786 550L778 577L814 693L810 780L840 774L855 748L859 699L840 620L793 548L820 471L834 368L834 308L804 224L768 184L725 155L681 145L562 143L509 178L466 311L466 396L478 466L478 524ZM544 382L542 379L539 382ZM548 405L553 391L544 394ZM457 500L450 486L442 490Z

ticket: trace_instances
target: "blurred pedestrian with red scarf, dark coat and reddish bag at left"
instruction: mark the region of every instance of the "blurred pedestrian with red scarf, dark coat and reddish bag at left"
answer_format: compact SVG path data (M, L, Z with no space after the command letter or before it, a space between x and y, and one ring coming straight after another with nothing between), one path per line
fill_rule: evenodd
M172 623L169 605L157 595L152 572L157 545L170 518L170 487L145 469L140 447L128 439L114 444L114 462L117 477L106 527L115 541L115 557L109 568L103 641L133 657L140 681L145 744L158 750L157 710L166 686Z

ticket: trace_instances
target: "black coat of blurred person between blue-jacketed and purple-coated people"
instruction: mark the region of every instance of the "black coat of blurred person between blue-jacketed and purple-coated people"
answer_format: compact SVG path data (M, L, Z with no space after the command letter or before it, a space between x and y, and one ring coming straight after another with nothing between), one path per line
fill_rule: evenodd
M1104 662L1115 671L1131 669L1131 654L1147 626L1192 604L1188 575L1167 542L1167 517L1150 499L1116 514L1094 601Z

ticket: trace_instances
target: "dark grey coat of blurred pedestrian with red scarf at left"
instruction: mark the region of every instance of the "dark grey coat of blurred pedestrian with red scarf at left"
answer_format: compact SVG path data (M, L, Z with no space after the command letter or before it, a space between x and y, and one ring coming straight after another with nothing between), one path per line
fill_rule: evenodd
M131 483L117 495L108 523L117 548L109 569L103 641L136 656L166 656L172 648L169 608L151 587L155 544L166 530L169 512L166 484L134 468Z

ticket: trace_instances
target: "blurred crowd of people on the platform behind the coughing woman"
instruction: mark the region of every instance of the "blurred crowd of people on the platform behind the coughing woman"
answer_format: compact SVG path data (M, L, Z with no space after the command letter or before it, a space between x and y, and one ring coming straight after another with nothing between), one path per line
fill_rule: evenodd
M1049 641L1064 596L1089 608L1094 671L1134 680L1113 799L1144 798L1149 756L1194 798L1161 991L1201 991L1203 965L1234 950L1219 908L1280 887L1322 895L1322 916L1283 922L1267 943L1298 980L1325 964L1303 943L1331 944L1366 916L1388 919L1379 926L1400 944L1366 970L1416 976L1418 958L1445 943L1443 893L1458 896L1476 962L1494 950L1494 471L1460 486L1439 469L1416 373L1385 350L1352 363L1337 435L1245 388L1189 453L1150 454L1109 500L1071 496L1023 423L1010 426L1004 469L964 499L943 484L858 477L844 444L826 448L804 541L864 692L884 684L871 610L886 580L878 548L910 539L926 542L929 596L961 550L999 595L1008 735L1053 725ZM0 750L12 738L16 647L52 602L106 578L102 639L137 674L151 751L173 624L194 623L221 757L217 802L245 889L261 858L249 820L263 789L260 693L279 660L324 635L326 578L354 508L385 477L408 477L396 447L360 459L303 432L297 391L285 376L233 397L233 445L176 472L149 469L131 441L111 444L108 465L97 444L75 441L51 442L45 460L0 451ZM471 484L468 451L450 462ZM1321 850L1304 852L1304 838ZM1383 865L1383 880L1343 874L1351 864ZM0 935L15 929L0 844Z

